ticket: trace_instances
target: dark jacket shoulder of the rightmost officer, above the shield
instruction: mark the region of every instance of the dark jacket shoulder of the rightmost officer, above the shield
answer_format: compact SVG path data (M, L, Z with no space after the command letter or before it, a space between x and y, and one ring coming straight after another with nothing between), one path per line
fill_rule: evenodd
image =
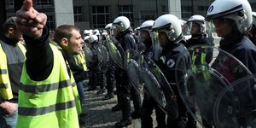
M253 74L256 73L256 46L246 36L223 38L219 48L224 49L241 61Z

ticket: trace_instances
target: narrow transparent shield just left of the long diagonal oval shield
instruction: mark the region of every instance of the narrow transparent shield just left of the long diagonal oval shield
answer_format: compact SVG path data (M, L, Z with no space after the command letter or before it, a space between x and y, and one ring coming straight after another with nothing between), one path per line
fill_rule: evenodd
M137 50L126 50L126 71L129 79L131 79L131 84L135 86L137 90L143 88L143 82L141 81L142 57L143 55L140 55Z

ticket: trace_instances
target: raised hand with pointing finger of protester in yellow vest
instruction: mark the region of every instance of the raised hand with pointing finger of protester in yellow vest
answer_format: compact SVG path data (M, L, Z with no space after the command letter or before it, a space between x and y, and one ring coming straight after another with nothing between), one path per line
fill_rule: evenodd
M16 12L16 26L20 32L31 38L42 36L47 16L32 7L32 0L24 0L23 6Z

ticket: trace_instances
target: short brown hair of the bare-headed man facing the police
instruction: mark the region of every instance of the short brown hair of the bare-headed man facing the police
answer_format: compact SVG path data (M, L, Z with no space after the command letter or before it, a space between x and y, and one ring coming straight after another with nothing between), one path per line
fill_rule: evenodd
M58 26L55 30L55 34L54 34L54 41L57 44L61 43L61 39L62 38L67 38L70 39L72 36L72 31L73 30L77 30L79 31L79 27L77 26L71 26L71 25L61 25Z

